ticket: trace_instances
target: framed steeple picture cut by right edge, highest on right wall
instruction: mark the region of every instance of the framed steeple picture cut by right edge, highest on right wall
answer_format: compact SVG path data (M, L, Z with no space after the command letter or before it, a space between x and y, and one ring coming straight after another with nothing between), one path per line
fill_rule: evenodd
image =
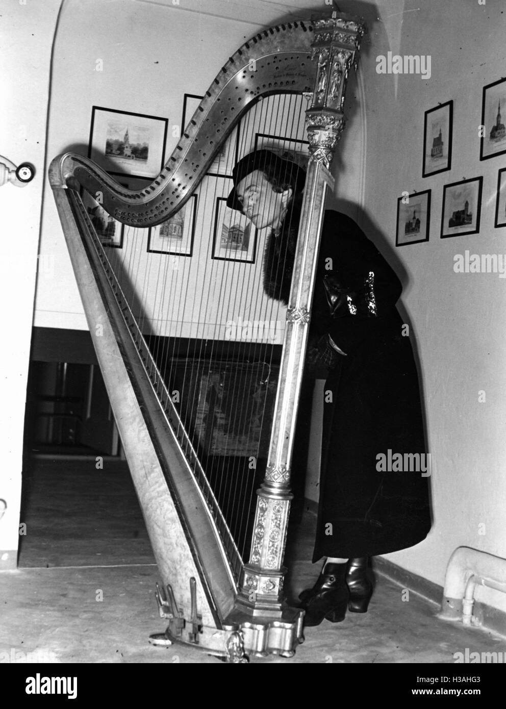
M506 152L506 79L483 86L481 104L480 160Z

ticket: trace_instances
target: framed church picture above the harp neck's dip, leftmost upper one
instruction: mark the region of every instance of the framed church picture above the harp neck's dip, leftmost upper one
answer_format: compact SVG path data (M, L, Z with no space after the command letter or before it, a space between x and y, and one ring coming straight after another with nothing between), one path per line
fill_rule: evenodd
M167 118L93 106L88 157L111 174L157 177L164 166Z

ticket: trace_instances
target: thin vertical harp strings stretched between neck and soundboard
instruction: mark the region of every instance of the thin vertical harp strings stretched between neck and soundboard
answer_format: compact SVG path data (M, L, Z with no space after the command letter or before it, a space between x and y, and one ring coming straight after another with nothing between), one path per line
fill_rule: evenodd
M254 104L235 129L236 135L230 136L225 157L218 161L218 174L231 174L235 163L230 159L231 143L236 140L239 159L255 147L304 153L303 143L298 142L305 140L304 109L303 97L296 94L277 94ZM148 238L151 250L155 240L162 246L176 243L175 238L157 237L157 228L124 227L123 248L111 247L107 252L169 392L178 392L174 403L201 454L225 518L220 521L218 515L218 527L225 523L230 527L244 559L255 491L266 463L285 309L264 294L269 230L256 234L250 225L247 243L246 220L237 212L228 223L228 236L240 223L242 245L224 240L221 247L226 233L220 218L230 189L230 178L208 175L198 186L196 199L191 197L182 209L180 249L186 247L185 236L195 219L191 257L148 253ZM253 249L251 264L244 256L251 256ZM220 260L220 254L227 260ZM266 279L283 281L290 258L288 250L281 253L270 264ZM227 333L230 322L235 323L231 335ZM264 323L262 332L252 327L251 336L247 335L244 323L255 322ZM248 426L252 417L254 428ZM240 569L235 571L238 574Z

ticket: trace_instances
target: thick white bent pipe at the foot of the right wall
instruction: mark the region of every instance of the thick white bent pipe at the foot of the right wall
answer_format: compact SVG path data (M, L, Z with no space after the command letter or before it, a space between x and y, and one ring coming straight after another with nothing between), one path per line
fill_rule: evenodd
M444 579L440 618L473 623L476 586L488 586L506 593L506 559L478 552L470 547L458 547L451 554Z

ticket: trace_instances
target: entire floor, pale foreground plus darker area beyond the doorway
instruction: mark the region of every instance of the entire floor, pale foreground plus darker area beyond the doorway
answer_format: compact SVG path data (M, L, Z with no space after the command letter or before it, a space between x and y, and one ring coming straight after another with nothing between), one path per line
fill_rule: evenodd
M33 461L23 488L26 536L19 569L0 573L0 648L40 661L220 663L193 648L152 647L163 632L154 601L159 581L128 469L104 461ZM315 517L292 525L287 547L288 595L311 586ZM456 652L506 652L506 639L444 623L438 606L378 576L369 612L327 620L305 631L292 659L253 663L448 663ZM38 654L38 655L37 655Z

